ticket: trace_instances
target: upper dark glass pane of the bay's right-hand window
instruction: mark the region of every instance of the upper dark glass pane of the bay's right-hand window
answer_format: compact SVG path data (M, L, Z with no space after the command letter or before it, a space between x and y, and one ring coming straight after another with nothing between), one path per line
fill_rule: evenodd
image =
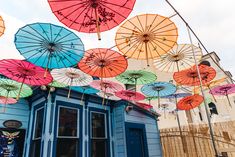
M105 115L92 113L92 137L105 138Z

